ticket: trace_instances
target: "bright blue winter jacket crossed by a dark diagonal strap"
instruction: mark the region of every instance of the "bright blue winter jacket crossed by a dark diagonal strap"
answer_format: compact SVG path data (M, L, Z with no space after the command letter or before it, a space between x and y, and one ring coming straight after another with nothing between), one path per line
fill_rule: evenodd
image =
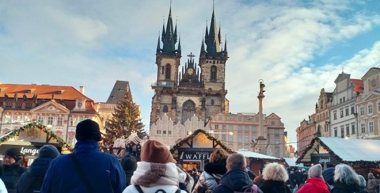
M100 152L96 141L78 141L74 153L96 192L121 193L126 188L125 173L118 159ZM52 160L41 189L41 193L67 192L88 192L69 154Z

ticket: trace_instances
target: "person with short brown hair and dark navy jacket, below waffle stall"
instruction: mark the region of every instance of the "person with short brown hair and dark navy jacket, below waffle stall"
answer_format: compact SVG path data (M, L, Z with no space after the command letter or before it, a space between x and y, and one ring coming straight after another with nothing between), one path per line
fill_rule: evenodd
M226 167L228 172L220 179L219 185L213 188L213 193L251 192L244 188L255 188L255 192L262 193L260 188L253 184L246 172L247 160L243 154L233 153L229 155Z

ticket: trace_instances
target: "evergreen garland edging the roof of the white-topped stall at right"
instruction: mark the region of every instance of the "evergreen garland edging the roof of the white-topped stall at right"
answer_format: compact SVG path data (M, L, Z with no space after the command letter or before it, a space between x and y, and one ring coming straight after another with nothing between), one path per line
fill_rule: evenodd
M339 157L339 155L337 155L334 151L332 151L332 149L330 149L326 144L324 144L323 141L321 139L319 139L319 137L315 137L309 143L308 147L302 152L301 156L299 156L299 158L296 160L295 163L297 163L297 164L301 163L301 160L303 159L303 157L305 157L306 153L308 153L308 151L313 148L315 142L318 142L319 145L321 145L328 152L328 154L331 155L339 163L370 165L370 166L375 166L375 167L377 167L380 164L380 160L375 160L375 161L368 161L368 160L363 160L363 159L356 160L356 161L343 160L341 157Z

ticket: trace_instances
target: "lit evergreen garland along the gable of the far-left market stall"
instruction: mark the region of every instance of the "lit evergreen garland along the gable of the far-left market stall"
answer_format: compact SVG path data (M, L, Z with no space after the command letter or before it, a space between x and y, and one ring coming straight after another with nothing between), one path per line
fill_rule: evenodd
M0 144L8 141L11 138L19 136L21 132L32 130L34 128L39 128L44 133L48 134L49 136L51 136L52 138L54 138L55 140L57 140L57 142L63 148L67 148L70 152L72 152L73 149L72 149L72 147L69 144L67 144L61 137L57 136L50 128L48 128L48 126L46 126L44 124L41 124L38 121L31 122L29 124L20 126L19 128L13 130L13 132L11 134L4 135L2 138L0 138Z

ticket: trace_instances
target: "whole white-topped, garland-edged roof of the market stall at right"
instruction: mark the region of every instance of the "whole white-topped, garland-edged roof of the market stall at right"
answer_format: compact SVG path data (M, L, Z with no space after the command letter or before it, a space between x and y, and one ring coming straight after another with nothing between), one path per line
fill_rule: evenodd
M297 163L308 162L318 145L341 163L380 162L380 140L317 137L297 159Z

